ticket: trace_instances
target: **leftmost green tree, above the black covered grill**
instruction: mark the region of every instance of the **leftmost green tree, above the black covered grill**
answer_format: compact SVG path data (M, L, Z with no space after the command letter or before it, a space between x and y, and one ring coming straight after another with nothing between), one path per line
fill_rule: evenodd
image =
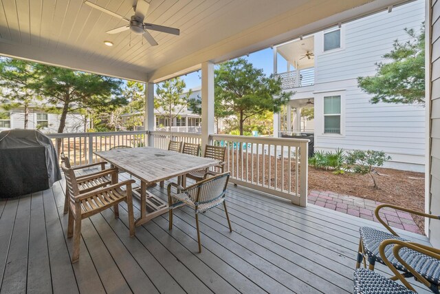
M0 59L0 96L4 110L23 108L24 128L28 128L30 106L39 100L33 90L36 81L35 63L19 59Z

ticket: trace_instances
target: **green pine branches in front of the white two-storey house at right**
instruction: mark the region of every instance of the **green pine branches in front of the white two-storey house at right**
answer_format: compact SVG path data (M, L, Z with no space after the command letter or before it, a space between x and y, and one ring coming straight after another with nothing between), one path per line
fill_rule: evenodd
M405 29L409 40L395 40L393 50L384 54L389 63L376 63L374 76L358 78L359 87L373 94L371 103L419 103L425 101L425 31L422 25L419 34Z

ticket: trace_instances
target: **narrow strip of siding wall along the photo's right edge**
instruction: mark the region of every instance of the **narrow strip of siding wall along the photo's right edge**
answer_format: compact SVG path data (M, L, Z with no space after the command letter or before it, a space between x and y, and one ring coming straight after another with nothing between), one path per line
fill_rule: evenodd
M428 198L430 200L429 211L440 216L440 1L432 2L432 51L430 81L430 168L428 168L428 183L430 184ZM431 220L429 223L430 242L434 247L440 247L440 221Z

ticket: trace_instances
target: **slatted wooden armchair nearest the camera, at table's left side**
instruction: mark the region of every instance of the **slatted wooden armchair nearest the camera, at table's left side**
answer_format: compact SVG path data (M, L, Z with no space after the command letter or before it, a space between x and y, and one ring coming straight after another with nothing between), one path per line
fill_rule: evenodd
M74 169L68 168L65 162L61 165L66 180L66 190L69 191L69 223L67 227L67 238L74 237L74 249L72 253L72 263L77 262L80 257L81 221L84 218L100 213L104 209L113 207L115 218L119 218L119 202L125 201L129 211L130 236L135 235L135 224L133 216L133 200L131 196L131 184L134 180L119 182L113 178L112 185L94 189L86 193L80 193ZM102 174L114 174L115 171L106 169ZM83 178L83 180L94 180L94 176ZM122 190L121 187L125 186Z

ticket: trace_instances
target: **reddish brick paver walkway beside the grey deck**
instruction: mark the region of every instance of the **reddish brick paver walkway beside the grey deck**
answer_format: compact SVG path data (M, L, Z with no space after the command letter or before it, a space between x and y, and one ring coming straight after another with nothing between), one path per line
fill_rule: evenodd
M375 222L378 222L378 220L374 215L374 210L377 205L382 204L381 202L355 196L342 195L331 191L316 190L309 192L308 202L320 207L348 213L351 214L351 216L357 216L358 218L374 220ZM404 229L412 233L421 233L410 213L384 207L381 209L380 216L383 220L386 220L391 227Z

